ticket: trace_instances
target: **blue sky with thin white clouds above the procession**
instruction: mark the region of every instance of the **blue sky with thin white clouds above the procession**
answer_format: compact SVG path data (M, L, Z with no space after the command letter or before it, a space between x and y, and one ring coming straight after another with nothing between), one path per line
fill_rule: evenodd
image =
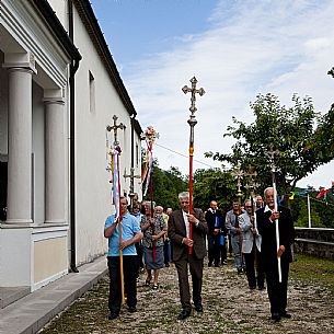
M308 95L322 113L334 102L327 76L334 66L334 0L92 4L141 127L152 125L160 134L153 154L162 169L188 173L191 94L181 89L194 76L206 91L196 101L195 169L220 165L204 152L231 151L227 126L232 116L253 122L249 105L258 93L278 95L287 106L293 93ZM298 185L330 187L332 181L333 162Z

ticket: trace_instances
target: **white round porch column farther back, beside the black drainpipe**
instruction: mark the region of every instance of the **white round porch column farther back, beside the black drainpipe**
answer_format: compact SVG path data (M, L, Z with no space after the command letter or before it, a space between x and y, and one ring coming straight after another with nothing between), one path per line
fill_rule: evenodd
M45 222L65 222L64 100L45 97Z

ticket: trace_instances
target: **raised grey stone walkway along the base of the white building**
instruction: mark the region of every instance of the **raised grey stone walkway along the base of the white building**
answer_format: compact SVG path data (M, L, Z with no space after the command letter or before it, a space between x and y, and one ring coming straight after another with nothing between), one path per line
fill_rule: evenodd
M0 310L1 334L33 334L107 273L104 256Z

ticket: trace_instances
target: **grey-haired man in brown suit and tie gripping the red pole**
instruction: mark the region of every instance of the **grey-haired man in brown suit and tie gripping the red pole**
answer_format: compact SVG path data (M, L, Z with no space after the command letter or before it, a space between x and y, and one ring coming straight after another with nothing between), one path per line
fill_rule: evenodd
M204 214L200 209L189 210L189 193L178 195L181 209L173 211L169 218L169 237L173 242L173 262L177 269L180 299L182 311L178 320L191 315L191 289L188 266L193 279L193 301L195 310L203 312L201 279L204 257L206 256L205 239L208 231ZM189 239L189 224L193 224L193 239ZM188 250L192 247L192 254Z

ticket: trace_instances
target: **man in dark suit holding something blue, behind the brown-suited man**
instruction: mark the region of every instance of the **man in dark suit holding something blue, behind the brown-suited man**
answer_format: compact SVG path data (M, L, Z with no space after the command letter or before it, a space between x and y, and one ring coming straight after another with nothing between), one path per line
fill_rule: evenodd
M215 267L220 264L220 233L224 234L224 218L222 211L218 209L217 201L211 200L210 207L205 215L208 224L208 255L209 267L215 263ZM223 260L222 260L223 261ZM221 261L221 262L222 262Z

